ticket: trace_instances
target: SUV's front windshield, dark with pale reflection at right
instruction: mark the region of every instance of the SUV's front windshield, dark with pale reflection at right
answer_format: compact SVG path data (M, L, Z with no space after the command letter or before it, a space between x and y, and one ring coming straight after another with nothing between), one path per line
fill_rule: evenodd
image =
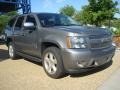
M72 18L61 14L38 14L43 27L79 25Z

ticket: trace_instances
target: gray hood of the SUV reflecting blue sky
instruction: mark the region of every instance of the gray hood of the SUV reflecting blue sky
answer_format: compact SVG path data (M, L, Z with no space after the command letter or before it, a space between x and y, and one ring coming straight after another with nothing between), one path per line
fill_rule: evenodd
M98 27L87 27L87 26L55 26L52 27L57 30L62 30L66 32L84 34L84 35L111 35L111 32L105 28Z

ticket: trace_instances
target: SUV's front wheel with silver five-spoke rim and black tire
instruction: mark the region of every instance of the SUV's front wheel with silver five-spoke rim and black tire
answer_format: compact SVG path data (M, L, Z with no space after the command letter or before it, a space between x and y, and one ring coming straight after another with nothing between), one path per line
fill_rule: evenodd
M60 50L56 47L47 48L42 57L43 68L48 76L54 79L64 76L65 71Z

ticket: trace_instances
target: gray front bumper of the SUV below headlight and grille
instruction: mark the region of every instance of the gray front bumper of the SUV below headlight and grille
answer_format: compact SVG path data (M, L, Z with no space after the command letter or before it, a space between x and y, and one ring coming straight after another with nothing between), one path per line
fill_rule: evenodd
M64 49L62 59L66 72L79 73L89 71L109 63L115 54L115 47L104 49Z

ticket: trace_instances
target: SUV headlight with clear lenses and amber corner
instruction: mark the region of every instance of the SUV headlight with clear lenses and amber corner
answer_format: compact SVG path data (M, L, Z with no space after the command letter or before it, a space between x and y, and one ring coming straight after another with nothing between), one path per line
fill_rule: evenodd
M80 36L67 37L68 48L87 48L86 39Z

